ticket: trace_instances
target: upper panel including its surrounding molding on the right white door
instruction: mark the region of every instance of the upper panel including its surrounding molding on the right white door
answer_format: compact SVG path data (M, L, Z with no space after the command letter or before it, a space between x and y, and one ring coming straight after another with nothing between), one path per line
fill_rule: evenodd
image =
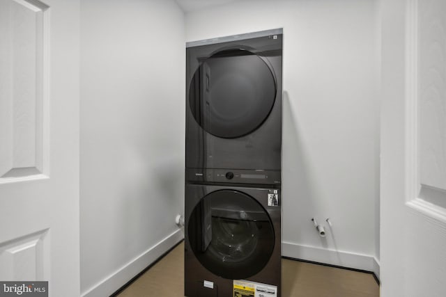
M446 223L446 6L422 7L406 1L406 206Z

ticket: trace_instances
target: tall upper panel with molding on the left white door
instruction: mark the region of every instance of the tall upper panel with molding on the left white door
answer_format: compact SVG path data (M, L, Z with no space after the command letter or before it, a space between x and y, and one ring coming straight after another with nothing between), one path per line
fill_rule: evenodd
M0 182L44 171L48 6L0 0Z

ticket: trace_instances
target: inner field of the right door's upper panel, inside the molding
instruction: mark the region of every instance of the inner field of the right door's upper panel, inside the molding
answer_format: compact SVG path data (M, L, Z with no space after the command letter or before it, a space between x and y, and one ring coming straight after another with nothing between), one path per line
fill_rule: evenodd
M446 207L446 1L418 4L420 198Z

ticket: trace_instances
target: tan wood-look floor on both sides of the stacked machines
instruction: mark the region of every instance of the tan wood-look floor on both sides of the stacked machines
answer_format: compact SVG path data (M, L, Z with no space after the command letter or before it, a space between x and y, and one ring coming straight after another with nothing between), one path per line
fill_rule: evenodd
M184 243L141 275L118 297L183 297ZM378 297L370 273L282 259L282 297Z

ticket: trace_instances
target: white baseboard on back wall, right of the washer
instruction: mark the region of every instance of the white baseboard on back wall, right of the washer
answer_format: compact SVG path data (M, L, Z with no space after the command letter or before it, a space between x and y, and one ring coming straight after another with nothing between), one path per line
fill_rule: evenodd
M379 262L373 256L316 248L314 246L301 246L289 242L282 243L282 256L345 268L371 271L379 278Z

